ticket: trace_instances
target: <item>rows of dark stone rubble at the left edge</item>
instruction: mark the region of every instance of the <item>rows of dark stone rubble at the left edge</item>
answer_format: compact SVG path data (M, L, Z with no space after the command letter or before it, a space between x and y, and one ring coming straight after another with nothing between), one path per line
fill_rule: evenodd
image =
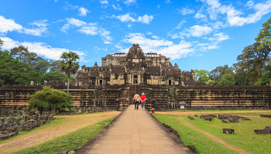
M19 118L0 118L0 139L7 139L12 135L18 134L18 131L33 129L54 120L53 114L50 114L50 116L39 116L39 112L35 112L35 114Z

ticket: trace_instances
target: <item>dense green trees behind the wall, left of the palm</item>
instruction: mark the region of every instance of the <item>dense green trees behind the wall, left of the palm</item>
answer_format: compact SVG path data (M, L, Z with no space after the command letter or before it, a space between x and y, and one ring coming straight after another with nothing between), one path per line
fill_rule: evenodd
M0 84L29 85L31 81L43 84L45 80L68 80L68 75L60 69L60 60L48 61L34 52L29 52L24 46L1 51L3 44L4 41L0 39ZM70 76L71 82L75 80L75 77Z

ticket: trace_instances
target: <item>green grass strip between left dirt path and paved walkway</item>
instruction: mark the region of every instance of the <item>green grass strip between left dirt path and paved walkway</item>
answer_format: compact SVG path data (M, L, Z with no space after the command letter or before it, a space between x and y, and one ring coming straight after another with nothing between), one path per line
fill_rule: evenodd
M78 129L70 134L63 135L61 137L55 137L42 144L18 150L14 154L27 154L27 153L39 153L39 154L56 154L61 150L73 151L76 147L85 145L91 140L99 131L107 126L117 115L110 115L106 120L94 123L84 128Z

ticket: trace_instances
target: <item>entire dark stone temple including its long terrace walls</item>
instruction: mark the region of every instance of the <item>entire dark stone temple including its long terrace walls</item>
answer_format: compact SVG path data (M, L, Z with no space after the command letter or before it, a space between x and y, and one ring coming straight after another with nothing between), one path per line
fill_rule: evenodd
M189 64L187 64L189 65ZM30 83L29 83L30 84ZM44 81L43 86L67 90L67 81ZM12 109L23 112L29 95L42 89L41 84L0 85L0 112ZM102 57L101 66L83 65L70 83L70 94L78 112L123 110L132 104L136 92L145 93L146 109L177 110L185 102L189 110L231 110L271 108L271 86L207 86L197 83L194 72L182 71L169 58L144 53L139 44L127 53L116 52ZM3 110L1 110L3 109ZM4 110L5 109L5 110ZM16 115L13 114L12 115Z

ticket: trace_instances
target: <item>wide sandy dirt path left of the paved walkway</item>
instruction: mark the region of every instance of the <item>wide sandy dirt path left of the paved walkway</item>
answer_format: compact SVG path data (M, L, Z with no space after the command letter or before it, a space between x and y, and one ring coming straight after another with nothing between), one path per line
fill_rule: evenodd
M65 121L59 121L54 123L52 126L49 125L46 129L39 129L31 131L28 134L23 134L21 137L15 136L15 139L11 139L8 142L0 144L0 153L12 153L16 150L20 150L26 147L34 146L46 142L55 137L68 134L76 131L98 121L102 121L108 116L100 115L117 115L120 112L105 112L100 114L89 114L89 115L71 115L71 116L56 116L65 117ZM89 117L92 116L92 117ZM19 136L19 135L18 135Z

